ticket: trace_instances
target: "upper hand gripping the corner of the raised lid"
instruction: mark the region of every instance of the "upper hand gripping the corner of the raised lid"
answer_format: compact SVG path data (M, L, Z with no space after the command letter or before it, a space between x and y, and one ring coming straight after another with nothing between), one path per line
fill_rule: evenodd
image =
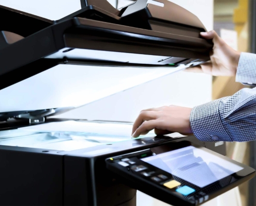
M226 44L215 31L201 32L200 34L204 39L213 40L214 47L210 52L210 61L185 71L203 72L213 76L235 76L240 53Z

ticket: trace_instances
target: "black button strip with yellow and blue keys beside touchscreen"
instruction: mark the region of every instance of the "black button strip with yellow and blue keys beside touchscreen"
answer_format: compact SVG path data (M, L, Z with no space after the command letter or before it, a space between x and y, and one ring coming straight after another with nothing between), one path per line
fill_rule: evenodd
M127 171L132 176L143 179L152 186L161 187L175 196L187 199L190 202L187 205L197 205L208 200L209 196L203 191L198 192L200 188L197 186L142 161L143 158L154 155L155 153L152 151L145 150L128 156L110 158L107 161L119 169Z

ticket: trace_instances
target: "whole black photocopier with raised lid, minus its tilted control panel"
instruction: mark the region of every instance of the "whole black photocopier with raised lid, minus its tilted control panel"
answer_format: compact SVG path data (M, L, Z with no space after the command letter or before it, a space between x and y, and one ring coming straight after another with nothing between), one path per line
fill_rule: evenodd
M137 189L197 205L252 177L207 189L207 198L201 192L170 200L153 184L116 173L107 159L179 142L225 156L223 142L152 133L131 139L122 133L131 123L54 118L209 60L213 43L200 37L206 30L199 19L158 3L138 0L117 10L81 0L81 10L58 21L0 6L0 205L135 205ZM112 134L115 128L121 132Z

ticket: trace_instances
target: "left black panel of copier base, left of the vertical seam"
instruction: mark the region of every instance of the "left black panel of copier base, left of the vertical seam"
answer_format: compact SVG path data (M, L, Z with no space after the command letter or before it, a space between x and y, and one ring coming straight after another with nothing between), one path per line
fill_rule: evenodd
M0 146L0 205L62 205L62 159L42 149Z

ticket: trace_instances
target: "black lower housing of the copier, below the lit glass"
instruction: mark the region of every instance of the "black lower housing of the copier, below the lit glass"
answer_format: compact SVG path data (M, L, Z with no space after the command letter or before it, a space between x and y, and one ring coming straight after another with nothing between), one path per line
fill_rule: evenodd
M184 140L225 155L225 145L205 145L195 136L156 136L131 140L132 147L119 142L74 151L0 146L0 205L135 205L136 188L109 171L105 159ZM113 150L86 155L106 148Z

